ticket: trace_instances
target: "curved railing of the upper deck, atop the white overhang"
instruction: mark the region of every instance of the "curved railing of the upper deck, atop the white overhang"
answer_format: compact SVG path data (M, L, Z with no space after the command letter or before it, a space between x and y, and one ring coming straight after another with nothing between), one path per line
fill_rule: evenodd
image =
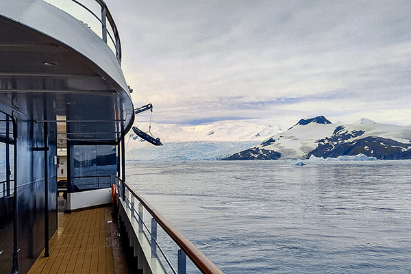
M114 23L114 18L110 10L108 9L108 6L105 4L105 2L103 0L95 0L95 2L101 8L100 14L97 15L95 12L92 11L92 8L89 8L88 6L84 5L83 3L80 3L77 0L67 0L67 1L69 2L71 1L79 5L84 10L86 10L86 12L91 14L92 17L97 19L97 22L98 22L97 25L99 25L98 28L101 29L101 34L99 34L100 30L97 31L97 29L91 26L94 24L90 24L90 25L88 23L84 23L84 24L87 25L93 32L95 32L95 34L97 34L106 44L108 44L107 37L110 38L109 41L111 42L110 43L111 45L110 44L108 45L110 49L112 49L112 51L115 53L116 58L119 61L119 64L121 64L121 42L120 42L120 36L119 36L119 29L117 29L116 23ZM75 12L73 12L72 10L69 10L69 8L66 8L65 5L58 5L57 3L54 3L52 1L50 1L49 3L64 10L65 12L71 14L72 16L75 16L74 15ZM78 16L75 16L75 18L82 21L80 18L78 18Z

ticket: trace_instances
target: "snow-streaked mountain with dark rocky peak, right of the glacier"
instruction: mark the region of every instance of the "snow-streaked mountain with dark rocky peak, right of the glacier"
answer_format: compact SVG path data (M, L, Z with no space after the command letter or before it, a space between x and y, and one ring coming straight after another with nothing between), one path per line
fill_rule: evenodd
M286 132L224 160L336 158L364 154L377 159L411 159L411 127L375 123L369 119L332 124L324 116L301 119Z

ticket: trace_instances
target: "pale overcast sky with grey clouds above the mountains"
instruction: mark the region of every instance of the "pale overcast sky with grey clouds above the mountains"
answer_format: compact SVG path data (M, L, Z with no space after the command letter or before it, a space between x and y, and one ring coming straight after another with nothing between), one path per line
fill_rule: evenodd
M411 125L411 1L105 2L157 123Z

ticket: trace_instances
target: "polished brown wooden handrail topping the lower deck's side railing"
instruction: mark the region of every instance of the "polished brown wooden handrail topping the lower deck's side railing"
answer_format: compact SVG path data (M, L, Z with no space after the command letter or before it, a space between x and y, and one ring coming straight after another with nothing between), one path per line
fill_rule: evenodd
M134 195L134 197L140 201L142 206L151 214L153 219L162 227L164 232L170 236L171 239L186 253L186 256L197 266L199 271L203 274L223 274L223 272L211 262L195 245L192 244L186 237L178 232L169 221L167 221L158 210L153 208L151 204L137 194L133 188L131 188L126 182L121 181L121 183L129 190L129 192Z

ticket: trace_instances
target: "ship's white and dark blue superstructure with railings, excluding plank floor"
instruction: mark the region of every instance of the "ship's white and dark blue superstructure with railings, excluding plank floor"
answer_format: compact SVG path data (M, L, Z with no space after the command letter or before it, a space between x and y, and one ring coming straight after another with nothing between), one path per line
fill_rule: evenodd
M127 231L134 223L142 226L134 201L140 201L136 208L153 211L125 183L123 139L134 122L132 90L121 71L114 18L103 1L96 3L98 34L45 1L0 1L1 274L27 273L43 250L50 255L58 192L64 192L65 212L76 212L112 203L114 190ZM171 227L154 213L160 226ZM142 250L139 233L128 235L133 256L143 252L138 268L166 273L152 250ZM173 240L201 272L220 273L180 234ZM153 242L151 235L151 249Z

